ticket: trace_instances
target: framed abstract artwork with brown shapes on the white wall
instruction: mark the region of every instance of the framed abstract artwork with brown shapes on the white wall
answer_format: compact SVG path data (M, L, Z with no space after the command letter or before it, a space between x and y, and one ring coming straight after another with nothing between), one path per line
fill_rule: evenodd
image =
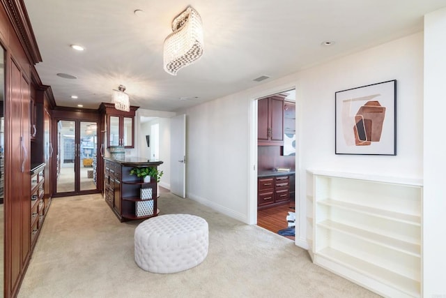
M336 154L397 155L397 80L334 97Z

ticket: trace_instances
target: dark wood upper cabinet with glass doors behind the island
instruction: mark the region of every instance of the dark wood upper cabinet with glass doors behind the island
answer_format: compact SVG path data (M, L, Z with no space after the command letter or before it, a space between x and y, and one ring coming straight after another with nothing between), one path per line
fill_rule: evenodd
M107 148L122 146L134 148L134 114L138 107L131 106L130 112L116 110L112 103L101 103L100 111L105 117Z

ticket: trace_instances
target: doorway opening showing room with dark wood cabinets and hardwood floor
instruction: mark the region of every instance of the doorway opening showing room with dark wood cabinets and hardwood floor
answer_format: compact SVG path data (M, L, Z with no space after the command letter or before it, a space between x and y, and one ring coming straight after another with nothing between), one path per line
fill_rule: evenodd
M257 100L257 225L295 239L295 89Z

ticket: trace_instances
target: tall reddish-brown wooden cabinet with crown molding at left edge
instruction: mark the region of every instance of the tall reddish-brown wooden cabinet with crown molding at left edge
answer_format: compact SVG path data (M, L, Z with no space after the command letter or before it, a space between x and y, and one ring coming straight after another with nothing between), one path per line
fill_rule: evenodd
M31 206L31 139L36 115L31 98L33 65L42 61L22 1L2 1L0 44L4 48L4 290L16 297L32 252L36 223ZM0 49L2 50L2 49ZM31 106L32 103L32 106ZM34 134L36 133L36 135ZM40 187L38 188L40 189ZM39 214L39 211L37 211ZM37 216L38 218L38 216ZM38 219L37 219L38 221Z

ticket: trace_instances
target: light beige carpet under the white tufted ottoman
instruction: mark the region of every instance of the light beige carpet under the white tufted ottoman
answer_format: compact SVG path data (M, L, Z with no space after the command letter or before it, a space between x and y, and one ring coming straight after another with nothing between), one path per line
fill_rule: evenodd
M208 221L209 252L197 267L153 274L134 262L134 228L120 223L100 195L56 198L18 297L378 297L313 265L307 251L170 193L161 214Z

